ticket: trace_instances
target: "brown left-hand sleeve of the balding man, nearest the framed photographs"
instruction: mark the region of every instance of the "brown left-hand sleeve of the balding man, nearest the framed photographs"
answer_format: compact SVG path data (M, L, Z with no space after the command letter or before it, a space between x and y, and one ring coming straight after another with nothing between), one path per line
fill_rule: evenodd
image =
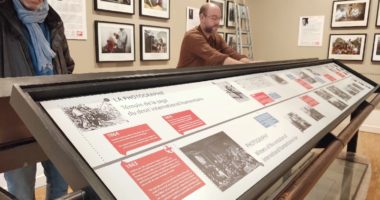
M228 55L211 47L202 35L187 35L185 37L188 50L194 56L205 61L206 65L222 65Z

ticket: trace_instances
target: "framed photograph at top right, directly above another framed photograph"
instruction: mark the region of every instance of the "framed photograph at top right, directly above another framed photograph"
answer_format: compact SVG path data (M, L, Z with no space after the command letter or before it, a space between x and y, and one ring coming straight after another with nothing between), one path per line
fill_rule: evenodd
M331 27L366 27L370 0L334 1Z

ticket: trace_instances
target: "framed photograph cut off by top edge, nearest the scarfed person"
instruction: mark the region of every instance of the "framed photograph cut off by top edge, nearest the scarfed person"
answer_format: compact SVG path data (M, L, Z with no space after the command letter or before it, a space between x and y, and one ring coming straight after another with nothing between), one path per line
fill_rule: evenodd
M95 0L95 10L134 14L134 2L135 0Z

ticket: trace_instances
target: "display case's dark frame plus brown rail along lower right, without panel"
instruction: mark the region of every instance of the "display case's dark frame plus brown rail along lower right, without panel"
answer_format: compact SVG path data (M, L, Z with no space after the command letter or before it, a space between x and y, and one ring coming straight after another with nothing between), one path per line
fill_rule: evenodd
M184 70L156 70L143 72L106 73L92 75L77 75L62 77L55 80L40 80L39 83L16 84L12 91L11 105L20 115L34 138L41 145L46 155L56 165L65 179L75 191L91 187L101 199L115 199L111 189L106 186L93 171L68 138L62 129L44 111L40 102L54 99L65 99L86 95L122 92L137 89L156 88L186 83L197 83L221 78L274 72L288 69L302 69L314 65L336 64L352 73L362 81L371 85L373 89L356 103L349 106L336 119L318 132L313 138L300 147L295 153L279 164L274 170L263 177L258 184L252 185L239 199L257 198L265 192L276 180L284 175L295 163L303 158L325 135L332 131L351 113L358 111L357 117L333 140L326 150L289 184L288 190L282 192L282 197L294 199L302 198L313 187L316 180L327 169L341 149L358 130L365 117L374 109L380 100L378 94L369 103L367 99L378 93L378 85L353 71L336 60L310 61L300 60L292 62L268 62L222 68L190 68ZM359 111L360 110L360 111ZM83 194L80 192L80 198ZM93 197L91 197L93 198Z

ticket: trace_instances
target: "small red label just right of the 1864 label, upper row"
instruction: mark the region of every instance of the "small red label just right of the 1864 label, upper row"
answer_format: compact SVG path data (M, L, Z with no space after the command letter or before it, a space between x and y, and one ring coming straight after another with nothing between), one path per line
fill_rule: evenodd
M166 115L163 118L180 134L205 125L191 110Z

